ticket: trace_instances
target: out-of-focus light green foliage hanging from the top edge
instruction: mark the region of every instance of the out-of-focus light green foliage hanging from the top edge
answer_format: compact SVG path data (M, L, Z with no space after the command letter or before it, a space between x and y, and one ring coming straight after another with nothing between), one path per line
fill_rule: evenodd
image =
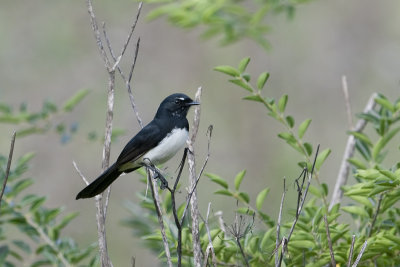
M222 36L221 44L227 45L243 38L250 38L264 48L269 48L265 38L270 27L267 16L284 13L292 18L295 7L309 0L292 1L235 1L235 0L146 0L158 4L147 15L148 19L166 16L176 27L194 28L205 26L202 37L209 39Z

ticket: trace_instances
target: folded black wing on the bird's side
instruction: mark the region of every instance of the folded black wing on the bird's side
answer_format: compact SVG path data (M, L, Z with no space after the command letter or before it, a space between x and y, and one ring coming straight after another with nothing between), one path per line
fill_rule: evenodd
M118 166L127 162L132 162L139 159L147 151L158 145L163 139L160 127L153 120L147 124L137 135L135 135L126 144L121 154L119 155L116 164Z

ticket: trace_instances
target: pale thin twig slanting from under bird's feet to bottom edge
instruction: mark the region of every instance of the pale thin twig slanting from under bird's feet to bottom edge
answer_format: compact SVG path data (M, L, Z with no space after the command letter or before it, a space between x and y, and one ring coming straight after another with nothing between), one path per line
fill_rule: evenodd
M155 179L153 179L153 175L151 174L150 170L147 170L147 181L150 184L151 194L153 196L154 207L156 208L158 223L160 224L161 236L162 236L162 240L163 240L165 256L167 257L167 263L168 263L169 267L172 267L173 265L172 265L172 261L171 261L171 252L169 250L168 239L167 239L167 235L165 233L165 226L164 226L163 215L162 215L162 211L161 211L161 202L160 202L160 198L158 196L158 191L157 191L158 190L157 182Z

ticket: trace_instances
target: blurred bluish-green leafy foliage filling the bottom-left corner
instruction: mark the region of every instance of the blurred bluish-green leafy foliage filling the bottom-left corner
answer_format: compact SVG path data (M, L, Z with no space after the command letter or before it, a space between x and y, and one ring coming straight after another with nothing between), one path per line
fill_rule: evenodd
M78 214L63 215L62 208L45 207L46 197L26 193L34 182L24 177L33 156L25 154L10 170L0 210L0 265L72 266L86 262L85 266L95 266L92 254L96 244L80 249L72 238L62 236L62 230ZM0 156L1 183L6 163L6 157ZM15 230L21 235L15 235Z

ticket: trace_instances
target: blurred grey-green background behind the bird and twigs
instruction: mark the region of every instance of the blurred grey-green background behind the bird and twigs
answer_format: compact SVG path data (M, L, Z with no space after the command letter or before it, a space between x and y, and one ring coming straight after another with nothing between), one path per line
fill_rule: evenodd
M136 16L132 1L94 1L99 21L107 24L116 51L120 50ZM346 144L348 129L341 76L348 78L354 113L360 112L372 92L394 101L400 82L400 2L396 0L312 1L298 6L293 20L273 16L267 22L272 30L267 39L272 49L265 51L251 40L221 47L217 39L202 41L202 28L181 30L165 19L147 21L153 8L144 5L134 42L141 46L133 77L133 92L140 115L149 122L160 101L174 92L194 96L203 87L201 127L196 143L198 165L206 155L206 130L214 125L211 158L206 171L233 182L247 169L243 189L256 194L271 187L267 211L277 215L282 179L289 182L299 173L297 153L277 138L280 125L266 116L263 107L243 101L244 92L226 82L226 76L213 71L217 65L236 66L249 56L248 71L253 76L269 71L264 94L289 95L288 114L297 122L312 118L306 140L322 148L332 148L321 170L322 181L333 185ZM134 45L132 44L131 51ZM131 56L131 55L130 55ZM129 67L125 58L122 66ZM97 240L94 201L75 201L84 187L72 166L94 179L100 172L102 144L89 141L88 133L103 135L107 74L89 24L85 1L9 1L0 3L0 101L18 108L26 102L31 111L40 110L43 101L63 103L76 91L88 88L90 94L65 120L79 124L78 134L66 145L56 134L17 139L15 157L37 152L28 174L36 183L33 193L47 195L54 207L81 215L67 228L67 234L86 246ZM117 75L118 77L118 75ZM192 114L188 118L191 121ZM126 134L112 144L115 160L126 142L139 130L126 89L117 78L114 128ZM8 153L14 125L0 124L0 149ZM167 164L174 175L180 157ZM139 239L121 221L129 216L126 200L139 201L137 191L145 186L138 174L129 174L113 186L107 217L109 250L115 266L128 266L136 257L137 266L157 263L155 255L141 248ZM333 190L330 187L331 191ZM214 211L224 210L227 223L235 203L212 195L214 185L203 178L199 184L200 210L213 202ZM185 190L182 190L182 197ZM254 200L254 197L253 197ZM289 205L289 204L288 204Z

